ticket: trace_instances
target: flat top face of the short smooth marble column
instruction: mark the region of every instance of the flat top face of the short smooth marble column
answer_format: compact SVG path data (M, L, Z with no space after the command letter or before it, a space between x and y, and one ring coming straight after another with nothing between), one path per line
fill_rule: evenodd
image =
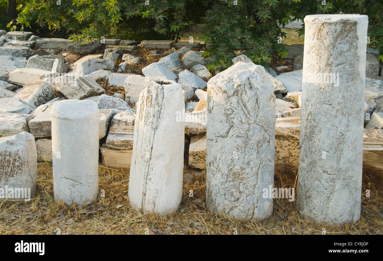
M88 117L95 111L98 111L98 106L92 100L63 100L53 103L51 114L54 118L73 120Z

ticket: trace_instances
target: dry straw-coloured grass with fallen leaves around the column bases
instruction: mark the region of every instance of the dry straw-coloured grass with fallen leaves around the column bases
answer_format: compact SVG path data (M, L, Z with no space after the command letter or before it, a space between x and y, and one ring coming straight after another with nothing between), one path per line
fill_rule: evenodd
M187 172L187 171L185 171ZM275 172L275 187L295 186L294 172ZM178 210L166 217L139 213L129 206L129 171L99 165L99 189L105 190L96 204L66 207L54 202L52 167L38 164L38 193L30 202L0 202L1 234L379 234L383 230L383 174L365 170L362 216L345 226L315 224L298 214L296 201L274 199L273 215L265 220L239 220L208 212L205 205L205 180L183 184ZM189 190L193 197L189 197Z

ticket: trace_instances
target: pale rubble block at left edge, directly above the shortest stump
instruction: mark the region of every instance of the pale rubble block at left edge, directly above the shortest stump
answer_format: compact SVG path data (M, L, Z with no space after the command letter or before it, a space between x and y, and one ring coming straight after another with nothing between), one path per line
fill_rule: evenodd
M0 136L11 136L23 131L29 132L29 114L0 112Z

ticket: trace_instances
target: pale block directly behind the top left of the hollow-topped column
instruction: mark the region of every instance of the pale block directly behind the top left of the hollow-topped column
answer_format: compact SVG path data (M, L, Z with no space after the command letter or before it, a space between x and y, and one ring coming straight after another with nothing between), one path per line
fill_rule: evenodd
M141 75L129 75L126 77L124 82L125 89L125 101L127 102L137 102L140 96L141 90L151 81L151 80L166 80L165 77L151 77L151 76L141 76Z

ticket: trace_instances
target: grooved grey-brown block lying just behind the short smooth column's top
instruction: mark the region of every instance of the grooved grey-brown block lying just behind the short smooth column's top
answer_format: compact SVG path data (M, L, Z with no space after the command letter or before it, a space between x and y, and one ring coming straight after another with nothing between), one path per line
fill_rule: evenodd
M68 99L80 100L102 94L105 92L105 89L101 87L96 80L81 76L65 84L59 89L59 92Z

